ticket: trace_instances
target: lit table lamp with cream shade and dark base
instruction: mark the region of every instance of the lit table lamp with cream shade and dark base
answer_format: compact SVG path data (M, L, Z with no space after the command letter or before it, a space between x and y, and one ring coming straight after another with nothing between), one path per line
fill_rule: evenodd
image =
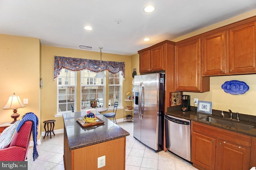
M26 107L20 100L20 97L17 96L15 93L9 97L8 102L4 106L3 109L13 109L13 114L11 117L14 119L12 123L15 123L17 121L17 118L20 116L19 113L17 113L17 109L20 107Z

